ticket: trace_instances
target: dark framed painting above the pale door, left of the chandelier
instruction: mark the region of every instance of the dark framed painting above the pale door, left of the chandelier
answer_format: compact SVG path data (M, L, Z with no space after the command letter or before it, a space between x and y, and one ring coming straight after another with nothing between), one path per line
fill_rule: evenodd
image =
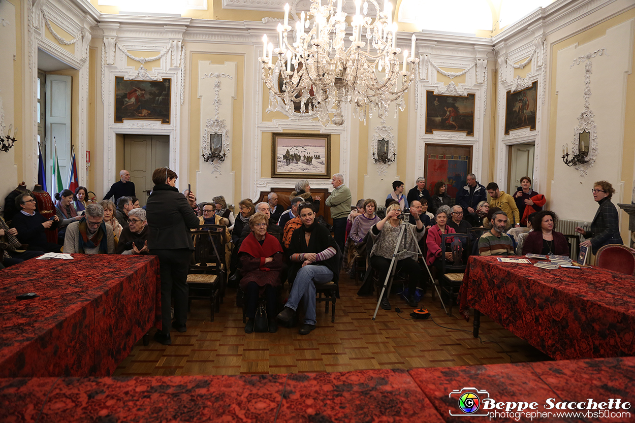
M136 81L116 76L115 123L138 119L170 124L171 81Z

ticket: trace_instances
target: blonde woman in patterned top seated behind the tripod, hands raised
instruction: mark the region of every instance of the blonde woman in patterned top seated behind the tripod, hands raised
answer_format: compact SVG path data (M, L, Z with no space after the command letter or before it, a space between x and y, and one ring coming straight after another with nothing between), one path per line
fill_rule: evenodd
M370 252L370 265L377 271L379 285L384 285L388 270L391 266L392 256L399 243L399 250L396 256L397 260L394 264L396 266L396 273L403 272L404 274L408 274L408 305L410 307L417 307L415 290L417 286L419 286L422 272L417 263L417 246L415 244L424 237L425 227L419 218L417 210L411 208L410 213L414 219L414 225L404 222L399 218L399 215L401 215L401 207L399 207L398 204L389 205L386 209L386 217L371 227L370 236L373 238L373 250ZM406 227L404 231L405 240L399 239L403 225L415 226L415 228L413 228L415 229L413 231L415 238L413 238L410 229ZM370 278L368 282L372 283ZM364 286L359 289L358 295L372 292L370 283L364 284ZM381 289L380 286L378 289ZM381 306L384 310L391 309L388 295L389 292L386 289L381 300Z

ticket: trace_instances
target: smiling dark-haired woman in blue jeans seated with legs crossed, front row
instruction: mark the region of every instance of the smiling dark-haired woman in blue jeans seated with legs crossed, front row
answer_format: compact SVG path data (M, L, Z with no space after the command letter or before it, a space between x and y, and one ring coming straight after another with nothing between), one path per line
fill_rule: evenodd
M300 302L304 305L304 324L298 333L307 335L316 327L316 283L337 283L340 276L340 255L331 232L316 221L311 203L300 203L298 214L302 226L293 231L290 255L289 281L291 292L277 319L288 324Z

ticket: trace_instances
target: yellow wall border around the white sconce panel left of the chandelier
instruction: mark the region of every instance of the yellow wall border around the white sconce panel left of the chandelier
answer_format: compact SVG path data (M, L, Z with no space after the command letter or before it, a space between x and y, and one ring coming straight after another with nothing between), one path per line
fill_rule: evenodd
M186 46L190 48L190 46ZM234 172L234 192L237 196L241 192L241 168L243 166L243 107L244 107L244 56L219 55L213 53L190 53L190 116L189 116L189 157L190 175L199 171L201 156L201 99L198 98L199 62L211 62L214 65L224 65L225 62L236 62L236 100L233 102L233 126L231 132L232 171ZM196 178L192 178L192 191L196 192ZM236 202L237 203L237 202Z

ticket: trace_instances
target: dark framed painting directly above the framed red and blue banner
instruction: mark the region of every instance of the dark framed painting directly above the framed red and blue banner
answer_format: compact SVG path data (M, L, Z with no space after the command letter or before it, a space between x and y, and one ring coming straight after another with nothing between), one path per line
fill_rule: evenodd
M474 137L474 94L438 95L425 91L425 133L465 132Z

